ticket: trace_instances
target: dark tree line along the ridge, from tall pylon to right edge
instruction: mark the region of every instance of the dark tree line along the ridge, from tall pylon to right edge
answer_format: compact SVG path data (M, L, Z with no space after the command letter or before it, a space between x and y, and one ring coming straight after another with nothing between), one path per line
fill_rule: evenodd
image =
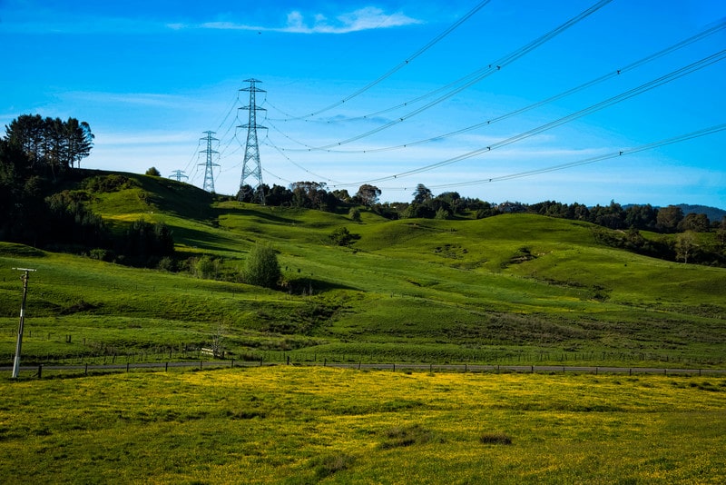
M359 206L388 219L482 219L502 213L536 213L548 217L594 223L606 229L594 230L598 243L638 252L670 261L726 265L726 217L711 221L705 213L683 213L681 207L653 207L636 204L623 207L611 201L608 205L588 207L583 203L488 203L477 198L462 197L456 192L435 195L423 183L417 184L410 202L379 203L381 191L375 185L363 184L350 195L347 190L328 191L326 183L296 182L288 187L260 185L257 190L244 187L238 198L242 202L264 202L272 206L317 209L328 212L348 211L354 222L360 221ZM645 238L641 231L660 233L662 237ZM704 240L698 233L715 233L715 239ZM673 238L668 234L676 234ZM354 236L342 228L330 234L337 245L352 243Z

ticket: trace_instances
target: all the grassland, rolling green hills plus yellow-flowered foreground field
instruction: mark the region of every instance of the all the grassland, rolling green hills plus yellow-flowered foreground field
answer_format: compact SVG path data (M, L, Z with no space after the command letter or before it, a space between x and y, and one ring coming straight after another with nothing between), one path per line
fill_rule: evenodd
M726 270L601 245L591 224L356 223L126 175L93 210L114 231L166 223L180 262L214 258L216 278L0 243L1 364L19 267L37 270L25 364L189 360L216 340L238 361L726 367ZM350 246L330 241L341 227ZM283 288L240 282L255 243ZM2 483L726 481L713 376L170 367L8 372L0 391Z

